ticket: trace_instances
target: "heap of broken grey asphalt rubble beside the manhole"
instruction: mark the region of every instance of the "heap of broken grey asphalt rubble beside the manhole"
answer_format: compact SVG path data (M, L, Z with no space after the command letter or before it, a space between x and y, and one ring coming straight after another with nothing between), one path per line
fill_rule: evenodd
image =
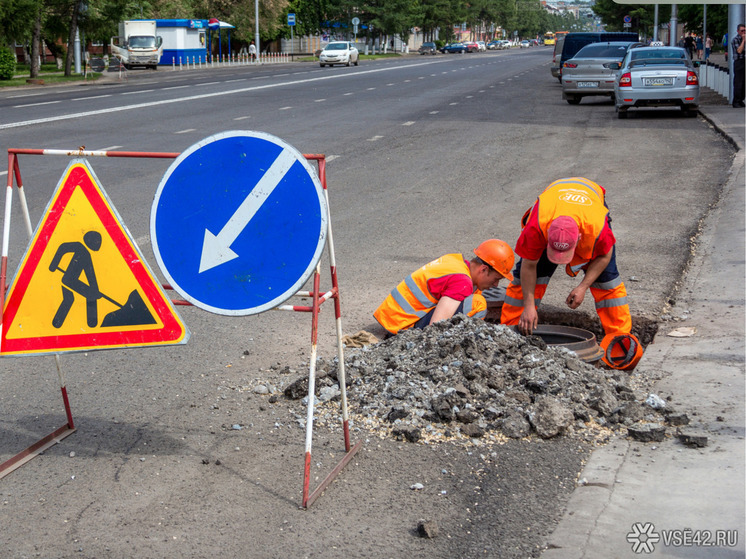
M628 374L463 315L348 349L345 369L351 425L409 442L607 439L610 429L658 421L663 413L645 405L647 393L631 386ZM317 396L337 382L336 359L319 359ZM284 394L304 398L307 386L300 378ZM338 408L320 403L318 423L336 428Z

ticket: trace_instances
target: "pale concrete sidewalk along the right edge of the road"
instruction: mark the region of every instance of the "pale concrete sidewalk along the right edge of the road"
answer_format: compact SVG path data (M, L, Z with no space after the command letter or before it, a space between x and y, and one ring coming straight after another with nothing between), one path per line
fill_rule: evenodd
M543 559L627 557L743 558L746 531L744 425L744 110L701 107L737 147L730 178L704 222L696 253L635 376L657 379L651 392L689 415L660 443L617 438L595 450ZM668 334L694 327L691 337Z

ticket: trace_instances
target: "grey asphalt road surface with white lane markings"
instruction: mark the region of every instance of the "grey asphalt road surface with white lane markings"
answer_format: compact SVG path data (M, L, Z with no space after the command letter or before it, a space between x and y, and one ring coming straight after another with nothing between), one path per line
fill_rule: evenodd
M108 76L86 86L0 91L0 149L179 152L211 134L248 129L274 134L304 153L326 154L346 333L380 332L371 313L407 273L447 252L468 254L485 238L513 243L521 215L542 188L585 176L608 190L633 315L654 320L680 278L690 236L726 179L731 148L703 120L676 110L618 121L603 98L570 106L550 75L550 61L548 49L533 48L363 61L357 68L143 70L130 72L126 83ZM150 205L169 161L90 163L155 268ZM34 223L66 164L62 157L21 157ZM9 230L12 274L26 246L17 200ZM557 276L548 305L561 306L572 285ZM265 378L274 382L272 365L307 361L306 316L180 312L192 331L186 346L61 358L79 431L0 481L0 541L14 550L12 557L125 557L133 549L141 557L198 557L212 544L239 556L252 545L248 535L269 550L257 557L447 557L493 546L508 557L536 550L551 529L582 460L574 443L515 447L506 456L509 470L515 473L523 456L532 465L505 486L509 499L492 500L498 511L484 496L482 508L468 505L471 493L458 507L407 493L406 480L420 481L407 474L430 466L433 479L453 467L463 472L462 483L473 481L468 475L481 479L486 492L477 456L369 441L362 465L346 474L350 481L320 501L329 508L299 516L293 509L302 431L291 429L286 416L273 417L280 412L252 398L250 387ZM591 318L592 301L578 312ZM330 323L322 313L320 352L327 356L334 353ZM287 429L272 427L275 421ZM0 461L63 422L52 358L0 361ZM235 422L257 427L251 433L247 427L237 443L221 427ZM281 433L270 436L273 429ZM226 454L234 447L253 452L208 481L199 458L230 463ZM333 465L324 456L320 467ZM548 456L558 463L547 468ZM370 477L356 478L355 468ZM553 468L561 472L559 485L552 486ZM499 475L504 480L509 473ZM169 482L159 483L158 476ZM406 491L386 489L396 482ZM249 486L256 493L244 494ZM448 491L458 490L454 480ZM249 505L256 516L244 510ZM441 518L448 533L434 547L412 543L409 533L412 518L424 513ZM332 546L345 534L329 530L330 516L348 519L354 544ZM288 519L295 530L285 538ZM466 535L474 519L481 523L476 539ZM254 533L237 534L247 524ZM533 534L522 531L527 525ZM498 535L511 542L510 552L494 543ZM307 541L312 551L303 551Z

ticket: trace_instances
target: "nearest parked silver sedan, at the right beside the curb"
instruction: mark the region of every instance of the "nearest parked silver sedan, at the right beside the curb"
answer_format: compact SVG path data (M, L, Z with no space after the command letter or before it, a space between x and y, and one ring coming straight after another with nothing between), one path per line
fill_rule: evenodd
M699 104L699 62L692 62L683 48L638 47L627 51L614 84L617 116L627 118L630 107L681 107L695 116Z

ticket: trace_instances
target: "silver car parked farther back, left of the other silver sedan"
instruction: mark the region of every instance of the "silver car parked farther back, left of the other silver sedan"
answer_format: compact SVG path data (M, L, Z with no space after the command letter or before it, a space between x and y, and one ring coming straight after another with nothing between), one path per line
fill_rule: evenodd
M589 95L608 95L613 99L616 71L609 65L621 62L634 46L642 43L616 41L584 46L562 67L562 98L571 105Z

